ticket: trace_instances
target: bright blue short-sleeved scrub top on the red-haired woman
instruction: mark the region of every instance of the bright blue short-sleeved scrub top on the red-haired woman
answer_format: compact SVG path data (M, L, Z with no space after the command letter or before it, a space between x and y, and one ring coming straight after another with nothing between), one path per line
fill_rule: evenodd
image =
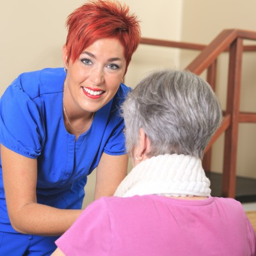
M63 68L45 68L17 77L0 99L0 143L37 159L39 204L81 209L87 175L99 164L102 152L125 154L120 105L130 88L120 84L115 97L95 113L90 129L76 141L64 125L64 80ZM1 162L0 230L15 232L6 209Z

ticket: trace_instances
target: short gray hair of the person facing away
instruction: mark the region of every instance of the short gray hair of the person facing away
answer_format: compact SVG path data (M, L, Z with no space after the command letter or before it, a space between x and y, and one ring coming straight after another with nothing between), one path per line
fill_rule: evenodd
M127 96L122 115L130 156L142 127L151 142L150 156L202 158L222 120L211 86L191 72L177 70L159 70L142 79Z

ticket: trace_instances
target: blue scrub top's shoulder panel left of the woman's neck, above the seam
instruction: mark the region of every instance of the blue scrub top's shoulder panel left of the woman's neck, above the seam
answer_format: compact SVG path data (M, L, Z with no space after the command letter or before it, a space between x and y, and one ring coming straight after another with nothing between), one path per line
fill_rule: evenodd
M63 91L64 80L63 68L44 68L20 74L9 87L21 90L34 99L45 93Z

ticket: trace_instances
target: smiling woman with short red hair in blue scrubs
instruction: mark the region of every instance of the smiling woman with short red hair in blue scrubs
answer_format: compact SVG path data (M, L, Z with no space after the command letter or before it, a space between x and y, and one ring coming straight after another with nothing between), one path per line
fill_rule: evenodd
M82 211L87 175L97 168L100 198L127 172L120 105L138 19L96 0L67 28L64 68L21 74L0 100L0 255L50 255Z

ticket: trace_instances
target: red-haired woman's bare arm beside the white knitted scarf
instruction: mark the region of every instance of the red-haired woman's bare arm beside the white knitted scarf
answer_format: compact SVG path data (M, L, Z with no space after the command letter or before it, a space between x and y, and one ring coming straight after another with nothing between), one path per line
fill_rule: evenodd
M113 196L120 182L127 175L128 156L111 156L103 153L96 174L95 200Z

